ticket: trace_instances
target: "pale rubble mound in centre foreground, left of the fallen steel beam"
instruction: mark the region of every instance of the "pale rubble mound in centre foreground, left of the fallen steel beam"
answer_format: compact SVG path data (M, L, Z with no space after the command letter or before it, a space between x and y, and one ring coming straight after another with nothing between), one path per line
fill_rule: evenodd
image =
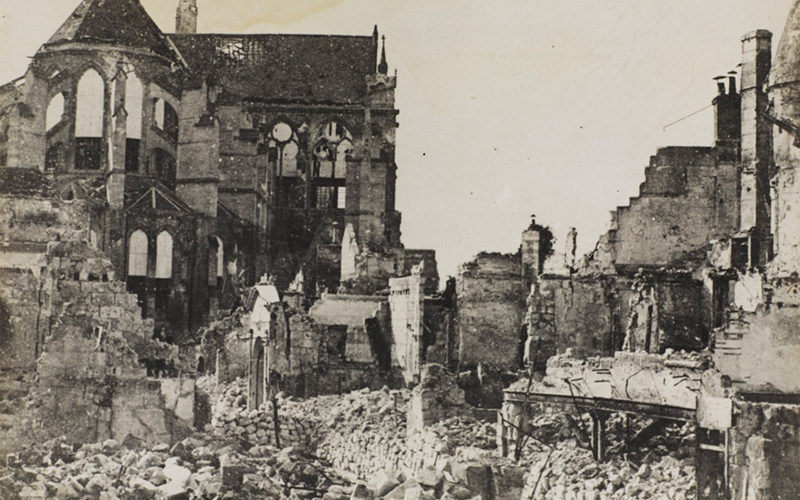
M241 439L240 424L248 417L243 391L242 382L217 391L218 435ZM409 391L362 389L303 401L279 397L278 406L281 420L295 419L303 426L309 450L350 481L360 481L354 498L471 499L495 491L487 464L505 461L493 456L494 426L471 417L450 417L407 436L409 399ZM259 418L271 421L265 415L269 410L271 403L259 409L248 426ZM258 435L259 422L255 428Z

